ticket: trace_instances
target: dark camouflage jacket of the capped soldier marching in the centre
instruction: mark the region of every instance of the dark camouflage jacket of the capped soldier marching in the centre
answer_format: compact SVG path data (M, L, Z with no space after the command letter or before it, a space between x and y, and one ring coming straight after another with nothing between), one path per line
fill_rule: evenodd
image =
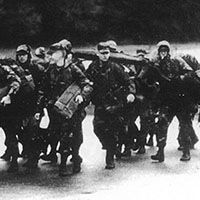
M127 89L127 93L136 93L134 83L130 82L129 76L117 63L99 60L93 61L86 75L93 82L92 103L94 105L109 104L108 94L118 91L120 87Z

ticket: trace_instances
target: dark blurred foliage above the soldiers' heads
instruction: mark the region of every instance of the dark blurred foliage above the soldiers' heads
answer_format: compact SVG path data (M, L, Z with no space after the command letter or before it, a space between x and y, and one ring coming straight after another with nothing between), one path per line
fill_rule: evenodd
M0 43L199 41L199 0L0 0Z

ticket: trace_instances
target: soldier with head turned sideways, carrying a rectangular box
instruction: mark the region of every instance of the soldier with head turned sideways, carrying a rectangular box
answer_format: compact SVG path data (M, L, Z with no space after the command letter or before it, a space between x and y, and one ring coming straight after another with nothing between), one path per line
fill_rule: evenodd
M66 51L60 43L51 45L48 53L50 55L50 66L41 86L42 98L40 98L40 102L47 106L49 112L50 134L57 137L55 138L56 142L60 141L61 163L59 175L66 176L69 174L66 162L71 154L73 155L73 173L78 173L81 170L82 159L79 156L79 149L83 142L83 113L82 109L78 109L71 118L66 119L66 116L57 112L58 110L55 109L54 104L72 83L76 83L83 89L89 81L83 72L72 63L71 53ZM81 104L84 101L83 96L81 94L77 95L75 101Z

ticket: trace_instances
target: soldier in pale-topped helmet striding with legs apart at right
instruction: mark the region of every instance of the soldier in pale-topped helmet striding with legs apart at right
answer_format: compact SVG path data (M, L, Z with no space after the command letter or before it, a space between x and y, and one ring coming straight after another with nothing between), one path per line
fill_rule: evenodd
M158 54L153 59L154 74L150 78L159 83L157 99L159 104L158 122L156 123L158 152L152 155L152 160L164 161L164 148L166 146L168 126L174 116L177 116L181 126L183 155L181 161L190 160L190 137L193 130L191 112L194 107L193 100L184 85L187 79L194 74L192 69L179 57L170 56L170 45L167 41L158 43ZM158 103L158 102L157 102Z

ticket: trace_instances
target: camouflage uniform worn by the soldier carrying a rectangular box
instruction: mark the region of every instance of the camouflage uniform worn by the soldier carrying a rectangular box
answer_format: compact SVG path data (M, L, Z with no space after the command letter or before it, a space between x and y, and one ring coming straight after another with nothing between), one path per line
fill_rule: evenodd
M66 160L71 154L73 155L73 172L80 171L79 149L83 142L82 120L85 117L85 112L80 105L80 109L74 113L72 118L66 119L54 109L56 100L74 82L82 89L88 84L85 75L75 64L71 63L63 67L50 65L45 73L40 91L43 96L41 102L47 107L50 117L50 135L54 135L52 138L54 138L55 145L60 141L60 175L65 175ZM56 148L52 148L53 151L56 151Z

